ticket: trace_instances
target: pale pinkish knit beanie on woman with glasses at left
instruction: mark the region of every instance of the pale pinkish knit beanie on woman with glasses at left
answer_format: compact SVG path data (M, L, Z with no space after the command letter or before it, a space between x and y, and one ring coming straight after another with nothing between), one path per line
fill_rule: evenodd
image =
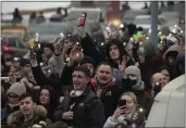
M9 90L8 90L8 92L7 92L7 94L9 94L9 93L15 93L16 95L22 95L23 93L25 93L26 92L26 87L25 87L25 85L23 85L22 82L15 82L15 84L13 84L10 88L9 88Z

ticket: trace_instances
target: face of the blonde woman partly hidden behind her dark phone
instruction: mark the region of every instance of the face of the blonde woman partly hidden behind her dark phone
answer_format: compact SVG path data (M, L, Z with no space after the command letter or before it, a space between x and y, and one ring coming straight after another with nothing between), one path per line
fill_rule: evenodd
M129 114L132 110L136 106L134 100L129 95L123 95L121 100L126 100L126 107L124 108L124 113Z

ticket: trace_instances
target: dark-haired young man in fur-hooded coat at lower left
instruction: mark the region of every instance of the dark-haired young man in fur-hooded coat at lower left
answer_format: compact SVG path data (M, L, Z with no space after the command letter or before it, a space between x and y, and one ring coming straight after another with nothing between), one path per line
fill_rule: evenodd
M35 125L40 125L40 128L49 128L52 123L47 118L46 108L36 105L32 93L23 93L20 97L20 111L8 117L8 125L15 125L18 128L33 128Z

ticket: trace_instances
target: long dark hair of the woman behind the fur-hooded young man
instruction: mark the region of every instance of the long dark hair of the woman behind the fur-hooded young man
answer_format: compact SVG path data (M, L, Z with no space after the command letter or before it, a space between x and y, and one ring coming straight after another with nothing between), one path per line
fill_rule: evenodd
M57 94L55 90L52 87L50 87L50 86L44 86L40 89L40 91L39 91L39 97L40 97L41 90L44 90L44 89L49 91L49 94L50 94L50 105L51 106L57 106L58 105L58 94Z

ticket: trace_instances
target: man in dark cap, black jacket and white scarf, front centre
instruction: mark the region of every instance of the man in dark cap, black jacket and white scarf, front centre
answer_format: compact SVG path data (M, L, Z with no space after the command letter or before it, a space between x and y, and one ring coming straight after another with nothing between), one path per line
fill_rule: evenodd
M104 107L88 86L90 71L86 65L73 72L73 87L57 108L55 120L65 121L74 128L102 128L106 121Z

